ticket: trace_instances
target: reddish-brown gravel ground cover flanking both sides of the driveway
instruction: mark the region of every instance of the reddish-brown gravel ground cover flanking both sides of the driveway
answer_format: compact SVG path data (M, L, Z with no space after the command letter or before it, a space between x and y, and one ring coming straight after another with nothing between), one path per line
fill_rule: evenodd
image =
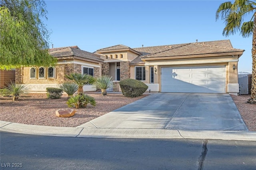
M77 127L146 96L128 98L120 93L108 93L107 96L96 92L87 94L96 99L96 106L89 104L85 109L76 109L77 112L73 117L56 117L55 115L56 110L68 108L67 95L62 95L60 99L46 99L45 93L29 93L19 101L12 101L10 97L0 97L0 121L28 125ZM231 95L231 97L248 129L256 131L256 105L246 103L250 95Z

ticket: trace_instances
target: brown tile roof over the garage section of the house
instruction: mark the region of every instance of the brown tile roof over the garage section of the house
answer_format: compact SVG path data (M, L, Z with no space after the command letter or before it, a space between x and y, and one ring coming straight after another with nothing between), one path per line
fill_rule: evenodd
M142 47L142 48L134 48L134 50L145 51L145 52L148 52L148 54L139 55L133 61L131 61L130 64L145 63L141 59L150 58L150 57L174 57L174 56L244 51L242 49L233 48L232 44L230 43L230 40L184 43L184 44L163 45L163 46L156 46L156 47Z

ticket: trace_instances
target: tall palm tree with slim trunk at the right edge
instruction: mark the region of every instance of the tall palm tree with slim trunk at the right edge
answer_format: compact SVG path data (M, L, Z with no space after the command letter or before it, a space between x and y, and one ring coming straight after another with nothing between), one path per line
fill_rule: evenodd
M250 14L251 20L243 22L244 17ZM235 0L220 4L216 11L216 20L219 16L225 21L224 36L240 32L243 37L252 35L252 89L248 103L256 104L256 2L252 0Z

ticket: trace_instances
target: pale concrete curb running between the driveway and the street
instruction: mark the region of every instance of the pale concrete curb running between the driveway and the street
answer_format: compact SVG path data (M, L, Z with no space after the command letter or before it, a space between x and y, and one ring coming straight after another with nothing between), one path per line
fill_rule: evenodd
M186 138L256 141L256 132L248 131L49 127L6 121L0 121L0 131L80 138Z

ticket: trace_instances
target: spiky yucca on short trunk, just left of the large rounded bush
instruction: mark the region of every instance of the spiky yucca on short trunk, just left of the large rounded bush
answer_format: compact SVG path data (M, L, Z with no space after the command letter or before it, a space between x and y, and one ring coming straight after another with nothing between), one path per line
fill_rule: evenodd
M102 96L107 95L106 89L112 86L112 76L109 75L102 75L101 77L97 78L94 82L94 86L96 88L101 89Z

